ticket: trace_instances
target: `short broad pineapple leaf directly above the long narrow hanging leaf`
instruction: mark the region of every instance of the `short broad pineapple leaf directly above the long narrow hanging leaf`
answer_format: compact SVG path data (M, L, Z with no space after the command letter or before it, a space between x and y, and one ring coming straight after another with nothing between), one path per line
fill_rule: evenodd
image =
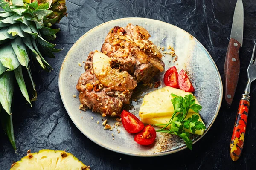
M26 46L23 43L21 37L17 37L11 42L12 49L15 52L15 55L17 56L18 61L22 66L28 67L29 63L29 56L26 52Z

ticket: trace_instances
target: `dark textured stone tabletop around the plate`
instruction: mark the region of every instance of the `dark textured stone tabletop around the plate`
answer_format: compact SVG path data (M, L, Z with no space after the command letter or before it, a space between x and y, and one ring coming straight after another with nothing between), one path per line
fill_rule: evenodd
M251 106L244 150L233 162L230 138L236 112L247 81L246 68L256 39L256 2L243 0L244 40L240 52L241 70L236 95L230 109L221 107L209 132L188 149L168 156L139 158L106 150L85 137L70 120L58 90L61 63L73 43L101 23L122 17L146 17L178 26L194 35L209 51L223 78L236 0L68 0L68 17L57 25L61 31L55 43L64 48L55 59L47 59L52 72L34 72L38 100L32 108L15 89L13 123L17 153L0 130L0 169L7 170L31 149L67 150L90 165L92 170L143 169L255 169L256 161L256 84L251 88ZM87 55L87 54L85 54ZM122 158L120 160L120 158Z

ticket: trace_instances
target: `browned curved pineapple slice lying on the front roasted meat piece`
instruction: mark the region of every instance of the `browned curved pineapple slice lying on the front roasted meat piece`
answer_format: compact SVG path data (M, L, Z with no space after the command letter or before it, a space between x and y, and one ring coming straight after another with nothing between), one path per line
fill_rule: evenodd
M113 90L133 90L137 86L136 80L126 71L119 72L110 66L111 58L101 52L95 52L93 56L93 71L99 82Z

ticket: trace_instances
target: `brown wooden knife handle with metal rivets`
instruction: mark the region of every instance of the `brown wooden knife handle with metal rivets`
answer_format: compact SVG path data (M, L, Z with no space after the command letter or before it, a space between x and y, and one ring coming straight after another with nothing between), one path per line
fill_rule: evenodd
M227 47L227 54L224 65L224 89L225 89L225 101L228 107L230 107L235 92L236 85L239 78L240 72L240 60L239 60L239 49L241 44L230 38L230 42Z

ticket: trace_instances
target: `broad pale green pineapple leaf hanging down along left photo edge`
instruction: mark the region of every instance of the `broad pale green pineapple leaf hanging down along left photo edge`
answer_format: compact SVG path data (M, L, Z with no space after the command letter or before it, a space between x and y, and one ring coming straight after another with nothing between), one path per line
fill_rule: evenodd
M13 73L4 72L0 75L0 102L3 109L10 115L13 95Z

